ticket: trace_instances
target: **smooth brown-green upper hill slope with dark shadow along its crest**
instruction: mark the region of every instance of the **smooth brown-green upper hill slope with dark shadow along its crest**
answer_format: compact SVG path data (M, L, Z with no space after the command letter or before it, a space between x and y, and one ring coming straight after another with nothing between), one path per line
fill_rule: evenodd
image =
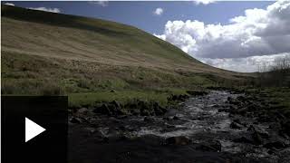
M3 51L187 71L214 70L132 26L5 5L2 16Z

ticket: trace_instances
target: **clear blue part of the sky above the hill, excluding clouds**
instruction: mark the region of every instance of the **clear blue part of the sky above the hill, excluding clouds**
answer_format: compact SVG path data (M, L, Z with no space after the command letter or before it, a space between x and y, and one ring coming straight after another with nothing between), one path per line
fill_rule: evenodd
M244 14L248 8L266 8L272 2L11 2L22 7L58 8L63 14L77 14L131 24L150 34L160 34L169 20L199 20L206 24L228 24L228 19ZM153 14L156 8L163 14Z

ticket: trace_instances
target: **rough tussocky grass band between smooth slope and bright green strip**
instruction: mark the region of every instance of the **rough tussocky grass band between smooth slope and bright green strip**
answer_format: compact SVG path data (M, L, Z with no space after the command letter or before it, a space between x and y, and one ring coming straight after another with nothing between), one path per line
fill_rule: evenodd
M201 75L184 75L161 69L111 66L43 56L2 52L3 93L39 94L58 86L64 93L123 90L195 89L212 84ZM13 88L14 87L14 88Z

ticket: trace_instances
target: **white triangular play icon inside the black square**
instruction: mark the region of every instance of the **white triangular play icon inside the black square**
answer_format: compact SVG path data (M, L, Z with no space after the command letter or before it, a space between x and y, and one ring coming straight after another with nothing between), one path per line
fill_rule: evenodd
M43 127L36 124L33 120L29 120L25 117L25 142L33 139L44 130Z

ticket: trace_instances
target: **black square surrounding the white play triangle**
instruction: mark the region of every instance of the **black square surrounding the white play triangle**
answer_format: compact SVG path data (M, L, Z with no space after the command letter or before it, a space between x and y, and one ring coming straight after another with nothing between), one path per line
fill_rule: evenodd
M1 97L1 162L67 162L66 96ZM43 133L25 142L25 118Z

